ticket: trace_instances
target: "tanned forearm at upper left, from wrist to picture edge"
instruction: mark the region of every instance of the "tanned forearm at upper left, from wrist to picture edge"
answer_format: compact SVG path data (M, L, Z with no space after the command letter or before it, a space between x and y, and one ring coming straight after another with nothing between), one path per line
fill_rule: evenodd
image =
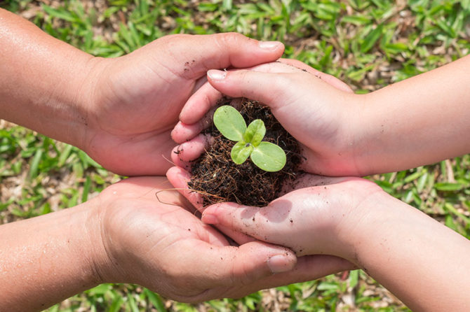
M80 147L94 62L0 9L0 118Z

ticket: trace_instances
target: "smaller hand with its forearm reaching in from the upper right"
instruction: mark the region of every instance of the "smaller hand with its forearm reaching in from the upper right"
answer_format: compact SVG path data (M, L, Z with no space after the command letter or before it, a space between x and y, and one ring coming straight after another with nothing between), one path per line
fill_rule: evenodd
M208 82L229 97L269 106L302 143L303 169L310 173L366 176L470 153L470 140L462 136L470 132L470 56L370 94L345 92L321 76L282 66L208 71ZM202 92L193 98L203 99ZM202 116L215 104L211 99L201 106L189 101L184 111ZM176 141L196 136L201 127L192 121L181 120Z

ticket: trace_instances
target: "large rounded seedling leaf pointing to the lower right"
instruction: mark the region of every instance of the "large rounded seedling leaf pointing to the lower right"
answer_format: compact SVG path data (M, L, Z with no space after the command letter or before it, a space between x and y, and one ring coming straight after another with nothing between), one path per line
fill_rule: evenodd
M251 161L264 171L279 171L286 165L286 153L276 144L261 142L251 153Z

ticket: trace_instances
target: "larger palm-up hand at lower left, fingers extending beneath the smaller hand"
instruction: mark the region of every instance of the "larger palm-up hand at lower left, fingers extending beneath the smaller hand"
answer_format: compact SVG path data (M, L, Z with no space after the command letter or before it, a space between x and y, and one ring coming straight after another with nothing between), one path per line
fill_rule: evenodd
M296 264L292 251L260 241L231 246L169 187L165 178L129 178L96 199L107 258L99 269L103 281L137 283L171 299L200 302L351 266L337 257L307 257Z

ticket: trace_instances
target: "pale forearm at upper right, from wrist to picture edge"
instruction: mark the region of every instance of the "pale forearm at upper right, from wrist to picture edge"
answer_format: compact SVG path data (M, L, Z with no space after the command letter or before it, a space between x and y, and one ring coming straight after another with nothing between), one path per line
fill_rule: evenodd
M363 174L470 153L470 56L364 96L356 153Z

